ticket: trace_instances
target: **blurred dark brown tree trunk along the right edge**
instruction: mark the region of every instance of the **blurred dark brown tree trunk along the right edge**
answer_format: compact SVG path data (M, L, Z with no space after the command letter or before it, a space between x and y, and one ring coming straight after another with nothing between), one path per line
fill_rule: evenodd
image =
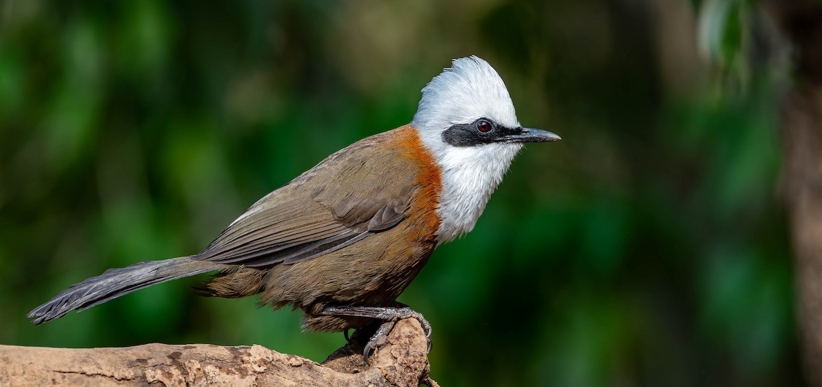
M765 6L791 43L796 66L781 121L784 193L806 375L810 385L822 386L822 2L770 0Z

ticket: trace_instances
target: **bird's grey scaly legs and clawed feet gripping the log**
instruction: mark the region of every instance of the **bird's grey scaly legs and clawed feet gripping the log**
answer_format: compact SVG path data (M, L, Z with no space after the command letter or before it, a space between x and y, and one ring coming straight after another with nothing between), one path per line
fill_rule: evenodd
M425 337L428 339L428 352L431 352L431 323L429 323L423 314L414 311L408 306L403 307L351 307L351 306L337 306L326 307L317 314L327 316L352 316L352 317L370 317L375 320L383 321L379 328L376 329L371 339L368 339L365 348L363 349L363 359L368 364L368 355L373 348L377 348L385 344L388 338L388 333L394 328L397 321L404 318L416 318L419 324L423 326ZM348 338L346 338L348 339Z

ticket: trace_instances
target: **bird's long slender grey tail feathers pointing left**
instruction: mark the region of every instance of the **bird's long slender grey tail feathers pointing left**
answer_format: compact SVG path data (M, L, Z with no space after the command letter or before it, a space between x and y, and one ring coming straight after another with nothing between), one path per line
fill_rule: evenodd
M36 325L62 317L68 312L84 311L123 294L132 293L168 280L224 269L228 266L178 257L164 261L146 261L120 269L109 269L102 275L72 285L29 312Z

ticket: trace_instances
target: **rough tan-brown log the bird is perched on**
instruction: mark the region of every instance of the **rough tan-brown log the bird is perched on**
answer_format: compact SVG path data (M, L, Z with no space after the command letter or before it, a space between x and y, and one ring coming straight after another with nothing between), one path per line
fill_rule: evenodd
M436 385L428 377L427 339L419 321L399 321L387 343L363 362L346 344L322 364L260 345L145 344L127 348L0 345L0 385Z

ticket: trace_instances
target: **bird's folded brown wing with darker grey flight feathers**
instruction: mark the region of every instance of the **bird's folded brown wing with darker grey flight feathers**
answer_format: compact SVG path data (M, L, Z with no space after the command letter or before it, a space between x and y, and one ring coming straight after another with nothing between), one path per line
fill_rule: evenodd
M388 139L377 134L326 158L255 203L195 258L249 267L293 263L397 225L418 193L418 170Z

